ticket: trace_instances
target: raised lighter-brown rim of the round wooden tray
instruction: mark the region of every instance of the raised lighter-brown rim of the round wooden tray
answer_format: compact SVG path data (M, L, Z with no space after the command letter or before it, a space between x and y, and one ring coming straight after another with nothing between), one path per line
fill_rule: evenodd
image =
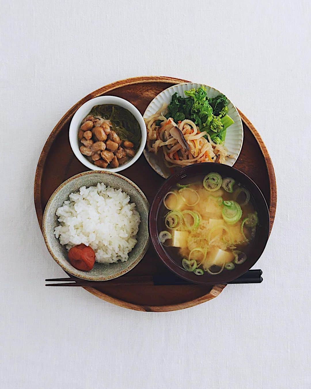
M35 201L35 209L36 209L36 215L38 219L38 223L40 226L40 229L42 231L42 217L43 212L41 210L41 179L42 179L42 172L45 164L45 160L47 158L47 155L49 153L50 147L52 146L52 143L54 139L56 138L57 134L61 129L63 128L64 124L66 124L75 111L86 101L90 100L91 98L97 97L99 95L102 95L103 93L107 93L109 91L112 91L117 88L121 88L127 85L132 84L138 84L138 83L149 83L149 82L163 82L167 84L178 84L181 82L190 82L183 79L178 79L174 77L164 77L164 76L142 76L142 77L131 77L123 80L118 80L115 82L112 82L111 84L107 84L103 86L102 88L96 89L95 91L89 93L89 95L83 97L81 100L79 100L73 107L71 107L64 116L59 120L59 122L56 124L52 132L50 133L49 137L47 138L47 141L45 142L42 152L40 154L36 173L35 173L35 182L34 182L34 201ZM257 143L259 144L259 147L262 152L262 156L265 160L268 175L269 175L269 185L270 185L270 205L269 205L269 214L270 214L270 231L273 226L274 218L275 218L275 211L276 211L276 198L277 198L277 191L276 191L276 180L275 180L275 172L273 168L273 164L271 161L271 158L269 156L268 150L266 148L266 145L261 139L261 136L259 135L258 131L255 129L253 124L247 119L247 117L242 114L240 110L238 110L242 121L245 122L249 130L254 135ZM226 285L219 284L214 285L213 288L210 290L209 293L205 294L204 296L201 296L199 298L196 298L194 300L185 301L184 303L174 304L174 305L156 305L156 306L149 306L149 305L136 305L133 303L129 303L127 301L120 300L118 298L109 296L108 294L105 294L103 292L98 291L95 288L92 287L83 287L83 289L87 290L89 293L94 294L94 296L97 296L101 298L102 300L108 301L109 303L118 305L123 308L128 308L132 310L138 310L143 312L168 312L168 311L174 311L184 308L193 307L195 305L204 303L205 301L211 300L212 298L217 297L222 290L224 289Z

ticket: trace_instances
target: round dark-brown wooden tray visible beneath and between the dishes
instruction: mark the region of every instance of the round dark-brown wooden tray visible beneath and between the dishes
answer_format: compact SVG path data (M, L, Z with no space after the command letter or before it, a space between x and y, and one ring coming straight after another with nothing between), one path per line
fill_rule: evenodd
M41 229L43 211L50 195L69 177L88 170L78 161L69 145L69 123L76 110L91 98L113 95L129 100L143 114L158 93L180 82L186 81L172 77L125 79L97 89L69 109L47 139L36 169L34 196ZM240 115L243 122L244 141L235 167L252 178L264 194L270 212L271 231L276 209L276 181L273 165L259 133L241 112ZM164 180L153 171L143 155L121 174L134 181L142 189L149 203ZM131 270L131 275L166 274L168 272L169 270L158 259L150 245L144 259ZM225 285L139 286L136 284L118 287L85 287L84 289L121 307L139 311L164 312L192 307L211 300L218 296L224 287Z

